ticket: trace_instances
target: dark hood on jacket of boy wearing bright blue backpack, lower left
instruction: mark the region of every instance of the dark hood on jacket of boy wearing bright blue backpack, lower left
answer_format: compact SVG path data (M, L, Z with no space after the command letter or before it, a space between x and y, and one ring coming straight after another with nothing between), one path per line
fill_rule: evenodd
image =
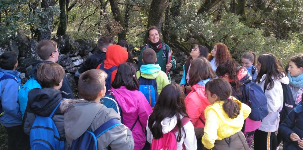
M43 117L49 116L61 100L61 91L53 88L35 88L28 92L29 109Z

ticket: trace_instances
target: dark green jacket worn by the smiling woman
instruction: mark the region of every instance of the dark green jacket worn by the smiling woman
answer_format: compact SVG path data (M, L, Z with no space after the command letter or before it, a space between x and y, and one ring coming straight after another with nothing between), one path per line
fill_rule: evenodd
M152 47L151 45L148 45L148 46L149 46L151 49L153 49L153 47ZM164 43L162 42L162 48L159 50L158 53L156 53L156 55L157 55L157 62L156 62L155 64L159 64L160 67L161 67L161 70L162 70L163 72L166 72L167 57L165 57L165 56L163 55L163 46L166 47L166 56L167 56L167 54L168 54L168 51L170 50L170 47L169 47L167 44L164 44ZM143 49L141 49L141 53L140 53L140 56L139 56L139 59L138 59L138 61L139 61L138 70L140 70L141 65L144 64L144 63L142 62L142 54L143 54L143 51L144 51L144 50L145 50L145 47L144 47ZM176 68L176 60L175 60L174 55L171 57L170 63L173 64L173 67L170 68L170 70L174 70L174 69ZM168 76L168 80L169 80L169 82L170 82L170 75L168 74L167 76Z

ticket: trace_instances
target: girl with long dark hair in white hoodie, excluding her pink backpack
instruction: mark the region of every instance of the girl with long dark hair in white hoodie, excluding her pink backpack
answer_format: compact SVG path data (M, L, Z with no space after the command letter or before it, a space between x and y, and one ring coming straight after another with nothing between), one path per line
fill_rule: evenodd
M154 112L148 118L147 141L153 145L152 139L160 139L163 134L171 132L175 127L178 132L177 150L182 150L183 144L188 150L197 149L197 141L193 124L189 121L181 123L188 117L184 104L184 93L178 84L169 84L161 91Z

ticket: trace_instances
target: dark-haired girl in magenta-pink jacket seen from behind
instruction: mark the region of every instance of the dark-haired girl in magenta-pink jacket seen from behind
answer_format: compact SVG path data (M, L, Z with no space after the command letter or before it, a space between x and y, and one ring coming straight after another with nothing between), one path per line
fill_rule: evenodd
M138 91L139 81L133 64L119 65L112 87L111 92L122 110L123 124L133 133L134 150L140 150L145 145L144 128L152 109L143 93Z

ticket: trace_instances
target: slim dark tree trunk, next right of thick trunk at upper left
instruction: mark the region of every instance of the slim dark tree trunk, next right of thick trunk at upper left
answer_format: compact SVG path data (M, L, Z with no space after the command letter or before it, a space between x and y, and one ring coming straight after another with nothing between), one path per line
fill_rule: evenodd
M60 5L60 16L59 16L59 25L57 30L57 36L65 35L67 28L66 21L66 0L59 0Z

